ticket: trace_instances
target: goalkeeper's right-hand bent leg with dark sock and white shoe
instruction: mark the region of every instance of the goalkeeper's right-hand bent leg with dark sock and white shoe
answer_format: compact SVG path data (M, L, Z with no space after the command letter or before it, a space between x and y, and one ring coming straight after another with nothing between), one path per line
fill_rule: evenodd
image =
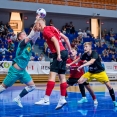
M21 93L13 99L14 102L18 104L18 106L23 107L21 104L21 98L27 95L29 92L33 91L35 89L35 84L31 78L31 76L26 72L22 72L22 78L20 78L20 81L27 86L21 91Z

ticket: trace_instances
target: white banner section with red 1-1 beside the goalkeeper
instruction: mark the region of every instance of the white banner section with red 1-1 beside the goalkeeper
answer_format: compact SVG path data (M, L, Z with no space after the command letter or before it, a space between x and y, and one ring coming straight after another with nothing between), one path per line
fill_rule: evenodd
M26 67L26 71L29 74L39 74L38 73L38 62L30 61Z

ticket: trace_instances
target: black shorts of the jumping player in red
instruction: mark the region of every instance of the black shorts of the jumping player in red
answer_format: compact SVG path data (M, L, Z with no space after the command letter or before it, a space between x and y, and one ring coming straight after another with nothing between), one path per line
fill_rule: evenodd
M66 72L66 61L68 59L68 51L61 51L62 61L57 61L57 53L52 53L52 62L50 62L50 71L58 74L65 74Z

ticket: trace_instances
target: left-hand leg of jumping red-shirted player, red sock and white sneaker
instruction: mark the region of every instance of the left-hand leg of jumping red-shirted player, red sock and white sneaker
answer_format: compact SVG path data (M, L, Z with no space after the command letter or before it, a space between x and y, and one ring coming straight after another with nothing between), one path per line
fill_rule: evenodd
M38 104L38 105L49 105L50 104L49 97L50 97L51 92L55 86L56 75L57 75L56 72L50 72L49 80L48 80L47 85L46 85L45 96L40 101L35 102L35 104Z

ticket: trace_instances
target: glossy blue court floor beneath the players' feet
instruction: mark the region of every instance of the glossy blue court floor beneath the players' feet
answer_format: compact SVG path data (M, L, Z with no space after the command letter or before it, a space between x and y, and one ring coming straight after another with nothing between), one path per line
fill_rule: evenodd
M69 93L66 99L68 104L60 110L55 110L60 96L58 84L52 92L49 106L34 105L35 101L43 97L45 91L45 85L37 85L35 91L22 98L23 108L18 107L12 102L12 99L19 94L24 86L13 86L0 94L0 117L117 117L117 108L113 106L105 87L100 84L91 86L96 91L98 106L93 105L88 92L86 92L88 103L78 104L77 101L81 98L81 94L77 86L74 86L68 89Z

